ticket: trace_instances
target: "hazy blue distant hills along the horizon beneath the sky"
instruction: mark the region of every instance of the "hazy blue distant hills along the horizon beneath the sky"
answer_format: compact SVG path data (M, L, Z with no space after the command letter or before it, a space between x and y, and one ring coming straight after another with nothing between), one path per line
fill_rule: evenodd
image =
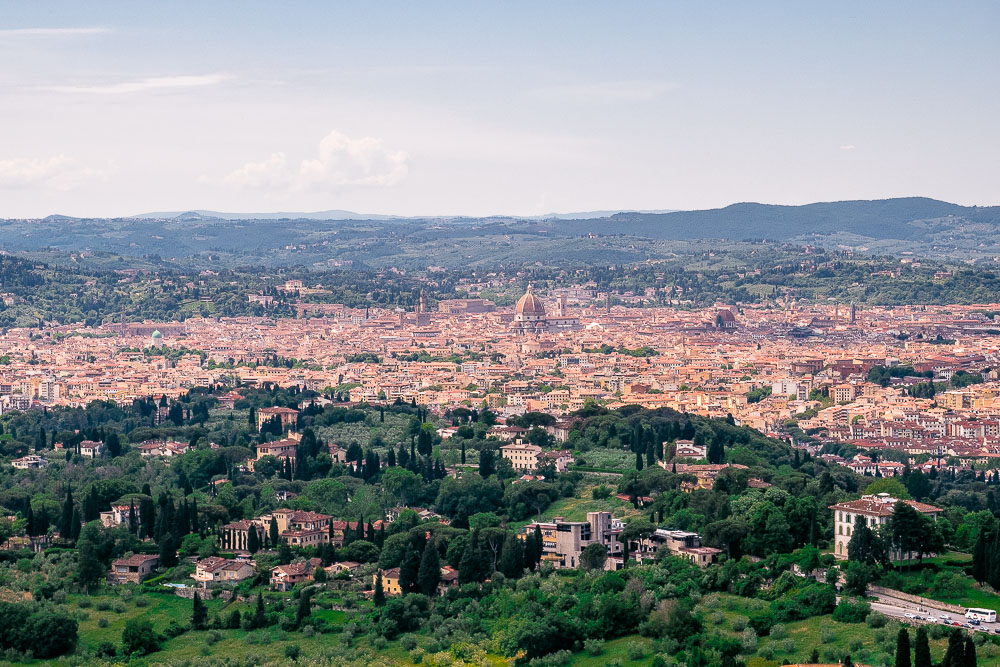
M673 256L684 244L789 241L883 255L1000 261L1000 207L908 197L703 211L539 217L395 217L350 211L221 213L0 221L0 249L199 257L231 265L466 266L609 264Z

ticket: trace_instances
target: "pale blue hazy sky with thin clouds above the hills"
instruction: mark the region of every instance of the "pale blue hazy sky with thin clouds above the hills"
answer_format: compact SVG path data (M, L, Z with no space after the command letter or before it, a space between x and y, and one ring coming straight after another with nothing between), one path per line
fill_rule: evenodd
M0 217L1000 204L1000 3L0 0Z

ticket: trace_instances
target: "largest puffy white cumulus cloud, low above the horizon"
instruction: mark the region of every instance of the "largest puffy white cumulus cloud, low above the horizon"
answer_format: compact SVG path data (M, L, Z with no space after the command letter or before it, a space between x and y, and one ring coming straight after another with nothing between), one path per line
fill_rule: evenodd
M248 162L226 176L226 183L248 189L305 190L349 186L391 186L409 172L410 156L382 145L381 139L351 139L336 130L319 143L318 155L302 160L296 168L284 153L262 162Z

